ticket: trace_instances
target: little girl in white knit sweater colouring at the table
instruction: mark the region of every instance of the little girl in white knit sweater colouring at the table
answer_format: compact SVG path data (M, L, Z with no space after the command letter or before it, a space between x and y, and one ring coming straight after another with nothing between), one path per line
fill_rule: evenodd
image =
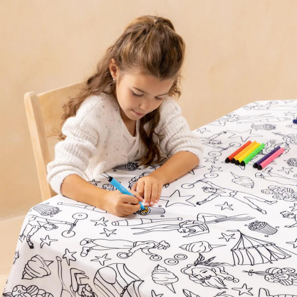
M80 94L63 106L63 141L47 166L56 193L122 217L136 212L139 201L153 206L163 185L198 165L201 144L173 99L181 95L184 54L169 19L144 15L128 24ZM161 152L171 157L137 181L135 197L88 182L131 161L148 166Z

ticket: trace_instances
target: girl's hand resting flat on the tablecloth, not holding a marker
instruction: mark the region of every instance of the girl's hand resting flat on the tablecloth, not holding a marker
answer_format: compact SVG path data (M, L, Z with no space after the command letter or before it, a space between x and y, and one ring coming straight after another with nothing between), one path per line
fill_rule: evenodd
M140 178L132 187L133 191L145 198L144 205L153 206L160 199L163 183L155 177L148 175Z

